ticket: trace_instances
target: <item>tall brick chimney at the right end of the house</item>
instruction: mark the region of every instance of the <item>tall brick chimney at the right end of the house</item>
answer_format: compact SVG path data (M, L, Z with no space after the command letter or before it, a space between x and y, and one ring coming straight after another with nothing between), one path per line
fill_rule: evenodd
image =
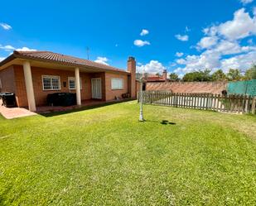
M127 63L128 72L128 93L131 94L131 98L136 98L136 60L133 56L128 57Z

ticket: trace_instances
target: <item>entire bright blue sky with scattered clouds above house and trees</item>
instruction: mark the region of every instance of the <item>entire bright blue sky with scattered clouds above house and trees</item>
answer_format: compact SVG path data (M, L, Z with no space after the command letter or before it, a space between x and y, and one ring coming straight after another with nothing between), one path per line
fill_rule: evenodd
M152 73L244 70L256 61L255 2L3 1L0 58L14 49L87 58L88 46L89 60L124 69L133 55Z

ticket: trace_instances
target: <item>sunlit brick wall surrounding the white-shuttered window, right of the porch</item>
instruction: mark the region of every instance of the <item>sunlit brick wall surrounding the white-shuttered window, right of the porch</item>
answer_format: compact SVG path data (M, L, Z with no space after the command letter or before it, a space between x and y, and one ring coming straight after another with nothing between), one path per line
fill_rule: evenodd
M121 78L123 79L123 89L111 89L111 79ZM105 73L105 93L106 101L113 100L115 97L122 98L123 93L128 93L128 75L127 74L115 74Z

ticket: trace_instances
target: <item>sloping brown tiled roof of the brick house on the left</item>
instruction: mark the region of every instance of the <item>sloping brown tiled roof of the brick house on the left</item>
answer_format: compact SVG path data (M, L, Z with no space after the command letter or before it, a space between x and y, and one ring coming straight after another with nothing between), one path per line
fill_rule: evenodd
M7 57L7 59L2 60L0 62L0 66L5 65L7 62L14 60L16 58L22 58L27 60L39 60L39 61L46 61L46 62L52 62L52 63L60 63L60 64L66 64L66 65L74 65L74 66L89 66L91 68L96 69L105 69L105 70L111 70L111 71L118 71L118 72L126 72L129 73L126 70L118 69L113 66L100 64L97 62L94 62L92 60L84 60L77 58L75 56L70 55L61 55L58 53L54 53L51 51L17 51L14 50L13 54Z

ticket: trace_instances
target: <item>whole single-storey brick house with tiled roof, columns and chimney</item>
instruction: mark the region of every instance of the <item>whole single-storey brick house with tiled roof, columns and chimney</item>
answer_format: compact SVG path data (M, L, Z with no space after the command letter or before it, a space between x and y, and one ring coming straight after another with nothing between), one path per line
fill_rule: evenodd
M76 93L76 103L111 101L129 93L136 98L136 61L117 69L91 60L50 51L14 51L0 62L0 92L16 94L17 106L36 111L49 93Z

